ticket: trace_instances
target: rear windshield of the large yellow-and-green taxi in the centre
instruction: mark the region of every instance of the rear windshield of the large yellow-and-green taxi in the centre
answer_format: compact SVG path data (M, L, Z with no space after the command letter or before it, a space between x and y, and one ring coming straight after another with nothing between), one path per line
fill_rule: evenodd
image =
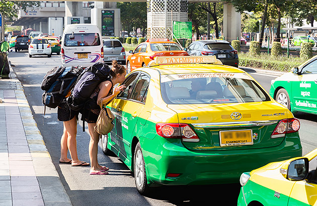
M245 73L192 73L161 76L167 104L217 104L269 101L268 94Z

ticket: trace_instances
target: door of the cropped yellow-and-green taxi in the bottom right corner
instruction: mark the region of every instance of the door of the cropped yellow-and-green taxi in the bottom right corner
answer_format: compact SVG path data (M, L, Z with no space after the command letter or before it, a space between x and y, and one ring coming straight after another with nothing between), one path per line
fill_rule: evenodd
M309 161L309 172L317 169L317 157ZM289 195L289 206L313 205L317 206L317 176L312 175L309 181L296 181Z

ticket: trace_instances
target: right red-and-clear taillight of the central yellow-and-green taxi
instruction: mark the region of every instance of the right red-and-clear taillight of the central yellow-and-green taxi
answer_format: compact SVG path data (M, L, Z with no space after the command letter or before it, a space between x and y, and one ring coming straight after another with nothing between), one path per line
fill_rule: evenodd
M274 129L271 138L285 137L285 134L297 132L299 128L300 123L296 118L281 120Z

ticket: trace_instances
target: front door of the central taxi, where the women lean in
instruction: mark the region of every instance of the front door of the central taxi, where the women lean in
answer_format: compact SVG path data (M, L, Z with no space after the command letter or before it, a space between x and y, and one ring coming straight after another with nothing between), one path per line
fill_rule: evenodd
M115 127L111 131L110 140L111 140L111 145L114 148L116 148L118 151L120 151L120 144L122 144L122 141L119 141L119 139L122 138L123 136L122 124L121 124L122 113L123 113L122 109L124 104L126 104L127 98L132 91L132 86L138 74L139 72L133 72L124 80L122 85L124 84L126 88L123 91L121 91L112 102L111 111L113 115L115 116Z

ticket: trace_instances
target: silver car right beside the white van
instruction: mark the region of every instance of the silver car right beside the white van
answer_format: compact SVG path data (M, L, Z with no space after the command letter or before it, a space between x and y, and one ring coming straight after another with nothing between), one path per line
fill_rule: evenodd
M111 63L117 60L122 65L126 64L125 50L118 39L103 39L104 42L104 61Z

